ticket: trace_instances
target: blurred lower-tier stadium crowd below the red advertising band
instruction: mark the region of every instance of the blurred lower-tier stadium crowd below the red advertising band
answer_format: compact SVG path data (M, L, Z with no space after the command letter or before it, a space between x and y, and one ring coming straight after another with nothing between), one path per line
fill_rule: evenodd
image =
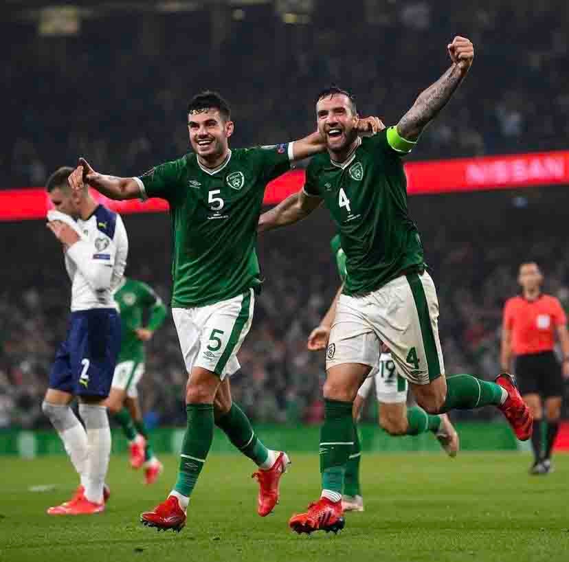
M475 227L461 225L463 195L452 196L446 207L438 208L441 216L453 218L447 225L440 225L436 213L425 222L429 208L438 205L436 197L412 198L411 203L419 215L421 208L426 209L419 226L438 285L446 372L493 379L500 368L502 306L517 291L517 265L538 256L546 273L545 289L569 303L569 250L560 231L562 223L548 224L546 215L537 216L531 210L512 210L516 229L500 225L490 212L486 217L480 213ZM487 205L481 198L483 194L478 196L480 204ZM467 207L477 214L476 206ZM502 212L498 207L494 214ZM449 208L454 214L449 214ZM330 226L326 230L319 221L306 221L295 236L284 229L260 238L259 258L266 281L252 330L239 354L242 370L232 379L235 400L254 420L311 423L322 416L324 356L306 350L306 337L330 304L339 278L327 246ZM21 227L23 232L31 224L10 228ZM69 287L63 260L51 238L41 233L43 225L34 224L37 234L31 238L38 248L37 258L15 262L0 292L0 427L47 424L40 410L41 397L56 346L65 334ZM129 275L148 282L168 302L166 216L127 218L126 226L132 246ZM158 235L161 231L164 236ZM14 247L14 255L18 249ZM148 420L162 425L183 423L186 372L171 318L147 349L141 388ZM373 412L370 407L368 416ZM476 415L491 416L493 411L484 409Z

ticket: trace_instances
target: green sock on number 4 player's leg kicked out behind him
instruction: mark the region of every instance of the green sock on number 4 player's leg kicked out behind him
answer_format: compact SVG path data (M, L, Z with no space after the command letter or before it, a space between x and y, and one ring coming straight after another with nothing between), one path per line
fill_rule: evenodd
M499 406L503 395L504 390L496 383L481 381L470 374L455 374L447 379L447 399L440 412Z

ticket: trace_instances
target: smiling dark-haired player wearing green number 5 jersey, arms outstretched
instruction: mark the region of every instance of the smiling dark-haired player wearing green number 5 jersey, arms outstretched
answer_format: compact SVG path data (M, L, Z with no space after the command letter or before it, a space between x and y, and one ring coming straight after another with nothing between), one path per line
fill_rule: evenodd
M172 316L189 374L188 425L177 482L166 501L143 513L141 521L178 531L186 524L214 424L259 467L254 473L260 485L259 515L268 515L278 501L289 458L257 438L247 416L232 403L228 377L239 368L236 354L251 327L261 284L256 236L265 186L289 170L291 161L325 149L315 132L288 144L230 150L230 108L213 92L194 96L187 116L194 153L141 177L101 175L83 159L71 175L74 188L86 183L111 199L161 197L170 204ZM377 130L373 119L355 126Z

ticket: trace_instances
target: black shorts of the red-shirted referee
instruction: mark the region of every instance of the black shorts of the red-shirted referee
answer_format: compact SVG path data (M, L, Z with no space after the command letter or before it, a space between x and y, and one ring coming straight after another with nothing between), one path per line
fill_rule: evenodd
M561 365L553 351L518 355L515 376L522 396L538 394L542 398L553 398L564 394Z

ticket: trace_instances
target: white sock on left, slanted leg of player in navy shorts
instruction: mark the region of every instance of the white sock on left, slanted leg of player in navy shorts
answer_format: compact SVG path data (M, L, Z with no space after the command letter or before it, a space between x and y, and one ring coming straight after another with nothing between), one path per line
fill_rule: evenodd
M85 486L89 452L85 428L69 406L50 404L44 401L41 409L58 432L65 451L67 451L71 463L80 477L81 485Z

